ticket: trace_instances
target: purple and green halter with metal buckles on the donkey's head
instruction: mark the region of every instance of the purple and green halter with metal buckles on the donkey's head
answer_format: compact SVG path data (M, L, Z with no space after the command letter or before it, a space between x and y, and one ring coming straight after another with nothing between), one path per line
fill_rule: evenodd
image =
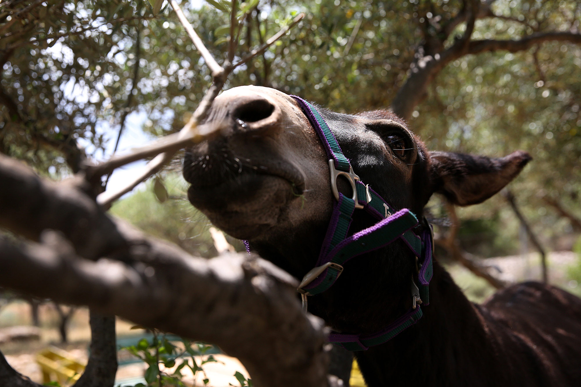
M416 257L419 288L412 276L412 306L406 314L373 334L331 332L329 335L329 342L347 350L366 350L370 346L385 343L422 317L419 304L429 304L428 285L432 279L433 231L431 226L419 236L411 231L418 225L415 214L408 209L396 212L369 185L363 184L353 172L349 160L343 155L339 143L317 109L298 96L291 95L291 97L299 103L327 152L331 171L331 189L336 200L317 266L303 277L303 281L297 288L302 296L303 309L307 310L307 296L316 295L330 288L343 272L343 265L353 257L389 245L397 239L403 241ZM352 198L347 198L337 189L337 178L340 175L349 181L353 192ZM353 212L356 209L365 210L378 219L378 223L348 236ZM425 223L427 224L427 221Z

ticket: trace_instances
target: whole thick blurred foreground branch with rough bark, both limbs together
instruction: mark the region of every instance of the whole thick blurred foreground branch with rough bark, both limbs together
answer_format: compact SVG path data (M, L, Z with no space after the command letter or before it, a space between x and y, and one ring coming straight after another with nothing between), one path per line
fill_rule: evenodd
M216 343L256 386L327 385L322 321L303 313L295 279L268 261L192 257L112 220L77 185L42 180L6 157L0 187L0 224L42 242L0 239L0 286ZM81 218L91 224L84 235L74 230ZM42 231L51 228L61 232ZM80 257L95 259L85 243L107 258Z

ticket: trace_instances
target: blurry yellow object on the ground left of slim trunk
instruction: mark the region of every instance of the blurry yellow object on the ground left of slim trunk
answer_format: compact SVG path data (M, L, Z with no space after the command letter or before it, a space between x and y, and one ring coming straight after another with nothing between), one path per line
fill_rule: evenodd
M57 348L48 347L37 354L37 363L42 371L42 382L59 382L62 386L74 384L85 370L70 353Z

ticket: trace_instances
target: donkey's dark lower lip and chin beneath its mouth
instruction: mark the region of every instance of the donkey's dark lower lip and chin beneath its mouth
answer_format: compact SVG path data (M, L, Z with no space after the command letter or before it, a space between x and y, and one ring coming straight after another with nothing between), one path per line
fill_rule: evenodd
M227 234L254 239L277 225L289 202L297 197L284 178L248 174L212 187L193 184L188 199Z

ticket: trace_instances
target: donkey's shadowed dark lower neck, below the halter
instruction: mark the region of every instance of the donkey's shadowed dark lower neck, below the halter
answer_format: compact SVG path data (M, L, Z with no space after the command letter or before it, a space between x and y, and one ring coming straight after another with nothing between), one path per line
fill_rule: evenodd
M391 341L356 352L370 387L499 385L502 376L491 370L503 367L482 311L437 262L422 311L417 324Z

